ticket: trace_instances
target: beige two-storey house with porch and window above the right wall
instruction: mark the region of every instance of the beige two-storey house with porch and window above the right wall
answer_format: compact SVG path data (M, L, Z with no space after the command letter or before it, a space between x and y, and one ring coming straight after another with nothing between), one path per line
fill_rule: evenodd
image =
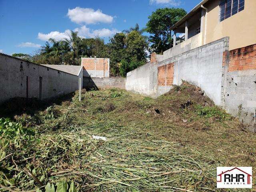
M256 44L256 0L203 0L171 30L174 46L176 33L185 33L177 50L190 50L226 36L230 37L230 50Z

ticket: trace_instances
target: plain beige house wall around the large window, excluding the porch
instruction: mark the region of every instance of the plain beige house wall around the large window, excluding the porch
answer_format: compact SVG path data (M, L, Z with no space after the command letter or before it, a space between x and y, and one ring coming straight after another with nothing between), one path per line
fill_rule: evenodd
M205 43L228 36L230 38L229 50L256 44L256 1L228 0L226 5L222 4L222 9L226 6L224 13L221 12L220 2L220 0L211 0L204 4L208 8ZM229 9L231 9L231 14ZM203 24L205 25L204 21ZM204 33L204 30L202 32Z

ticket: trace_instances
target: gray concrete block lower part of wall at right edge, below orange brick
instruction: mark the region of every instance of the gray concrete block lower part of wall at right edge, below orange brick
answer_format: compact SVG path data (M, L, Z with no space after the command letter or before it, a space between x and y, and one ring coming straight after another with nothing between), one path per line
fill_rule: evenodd
M227 72L225 109L255 132L256 70Z

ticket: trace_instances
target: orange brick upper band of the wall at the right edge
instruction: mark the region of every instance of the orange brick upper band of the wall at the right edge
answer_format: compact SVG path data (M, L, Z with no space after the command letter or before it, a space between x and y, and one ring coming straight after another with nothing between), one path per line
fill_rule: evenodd
M231 50L229 57L229 72L256 69L256 44Z

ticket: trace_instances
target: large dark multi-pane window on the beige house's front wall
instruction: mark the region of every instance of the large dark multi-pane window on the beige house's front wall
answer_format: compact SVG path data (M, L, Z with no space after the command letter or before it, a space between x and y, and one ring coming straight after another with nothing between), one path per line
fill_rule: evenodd
M220 21L244 10L244 0L220 0Z

